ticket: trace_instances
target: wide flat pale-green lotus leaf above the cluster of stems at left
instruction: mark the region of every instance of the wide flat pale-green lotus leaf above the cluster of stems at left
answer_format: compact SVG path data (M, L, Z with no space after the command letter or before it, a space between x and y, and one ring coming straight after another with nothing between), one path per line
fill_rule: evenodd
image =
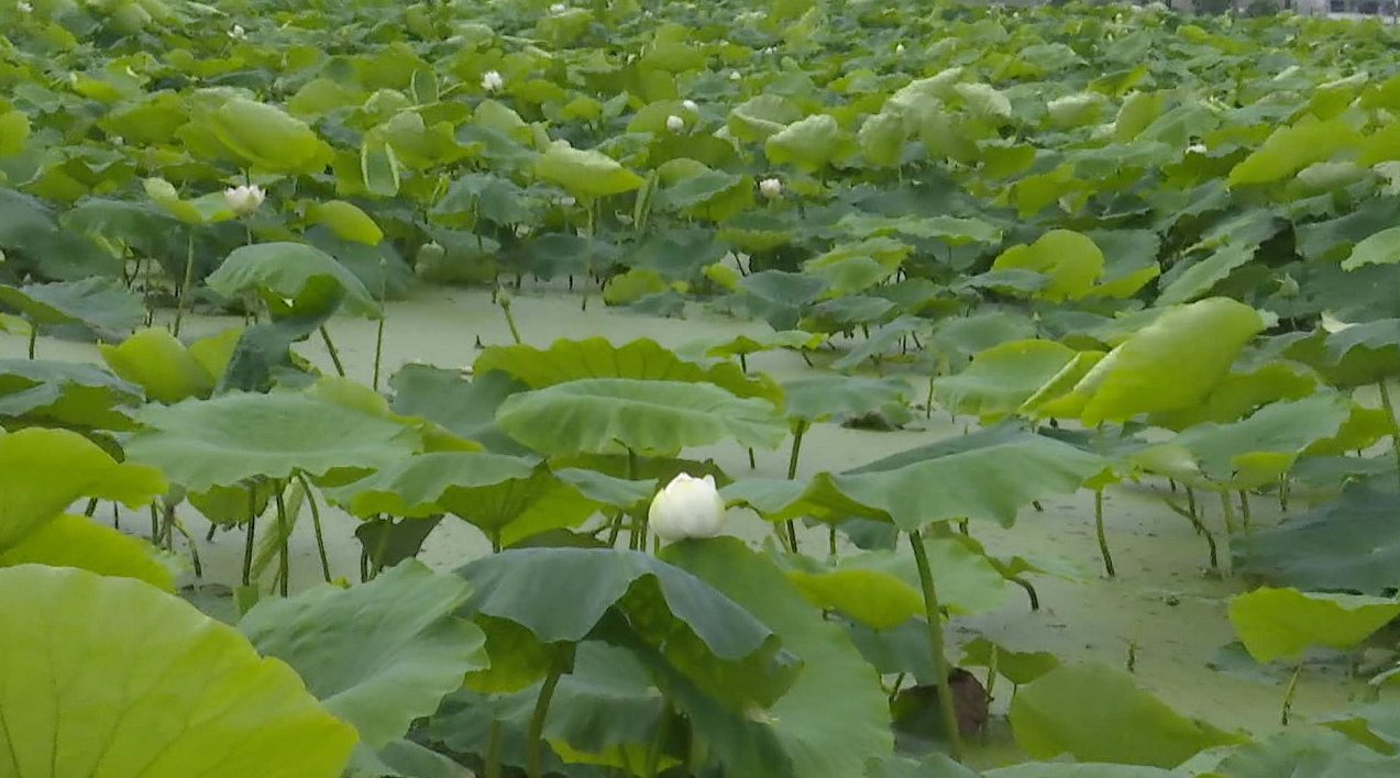
M421 441L412 427L291 392L146 406L140 421L147 430L127 442L127 456L190 491L295 470L384 467Z

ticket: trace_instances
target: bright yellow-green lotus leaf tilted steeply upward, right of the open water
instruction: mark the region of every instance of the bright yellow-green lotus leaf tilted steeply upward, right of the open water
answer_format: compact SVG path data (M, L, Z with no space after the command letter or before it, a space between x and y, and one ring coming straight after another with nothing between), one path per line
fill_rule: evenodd
M1229 371L1264 329L1253 308L1211 298L1169 308L1119 344L1075 385L1084 424L1126 421L1141 413L1190 407Z

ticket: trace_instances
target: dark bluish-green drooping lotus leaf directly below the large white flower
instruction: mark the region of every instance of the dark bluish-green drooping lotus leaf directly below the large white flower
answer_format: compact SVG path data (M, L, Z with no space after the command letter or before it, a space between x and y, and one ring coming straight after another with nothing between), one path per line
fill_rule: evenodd
M647 646L735 711L771 705L798 674L762 621L704 581L640 551L507 550L458 575L472 585L463 613L512 621L545 644L592 637Z

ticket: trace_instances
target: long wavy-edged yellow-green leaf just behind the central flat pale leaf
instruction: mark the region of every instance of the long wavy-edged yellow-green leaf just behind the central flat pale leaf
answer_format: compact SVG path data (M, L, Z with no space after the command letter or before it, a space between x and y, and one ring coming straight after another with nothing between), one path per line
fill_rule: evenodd
M739 397L781 400L781 389L766 375L746 375L739 365L720 362L704 367L687 362L651 339L613 346L603 337L556 340L549 348L493 346L477 354L472 368L477 375L500 371L531 389L543 389L580 378L637 378L706 382Z

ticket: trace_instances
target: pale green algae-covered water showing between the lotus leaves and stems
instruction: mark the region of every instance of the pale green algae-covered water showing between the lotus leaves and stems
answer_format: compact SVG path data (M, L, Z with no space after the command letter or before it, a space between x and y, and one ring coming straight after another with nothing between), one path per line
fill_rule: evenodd
M767 332L762 322L743 322L715 316L692 306L685 319L619 312L594 299L587 311L580 297L557 290L531 292L514 298L512 311L521 337L531 344L547 346L560 337L602 336L615 343L650 337L668 347L704 339L727 339L741 333ZM186 325L189 334L211 334L241 323L234 318L196 316ZM370 382L374 362L375 326L372 320L335 319L330 332L351 378ZM391 302L384 340L384 375L392 375L407 362L440 367L469 365L483 344L504 344L511 334L500 308L486 291L423 288L410 299ZM24 340L0 334L0 355L15 357ZM42 339L38 346L45 358L95 361L97 348L87 343ZM298 346L298 351L330 371L330 360L319 340ZM811 371L791 353L756 354L750 369L763 369L776 378L791 378ZM948 435L962 434L962 421L944 411L932 418L918 414L913 428L885 432L850 430L818 424L804 442L799 474L820 470L844 470L881 456ZM787 449L759 452L757 469L750 472L743 449L713 446L687 452L713 458L734 477L787 474ZM995 613L956 617L951 635L966 642L986 635L1012 651L1049 651L1061 659L1102 660L1127 666L1138 683L1158 694L1183 714L1211 723L1253 733L1266 733L1280 725L1287 676L1267 674L1247 662L1226 663L1211 669L1218 652L1232 641L1225 604L1229 595L1245 590L1245 582L1229 577L1228 570L1212 572L1207 565L1207 547L1186 519L1172 512L1161 500L1165 483L1113 487L1106 495L1107 537L1117 563L1114 579L1103 577L1093 532L1093 500L1089 491L1070 498L1043 502L1043 511L1026 509L1011 529L974 525L973 535L998 556L1036 553L1061 556L1078 563L1088 572L1082 582L1053 577L1035 577L1042 610L1032 611L1019 589L1011 588L1005 604ZM1275 522L1278 507L1256 501L1256 526ZM1222 530L1218 507L1207 511L1207 522ZM105 515L106 508L102 508ZM225 532L204 540L209 525L188 507L181 516L199 543L204 575L183 575L186 595L200 607L221 617L232 616L230 585L239 579L242 533ZM353 537L357 523L351 516L330 509L325 515L332 572L354 578L358 571L360 546ZM144 515L123 514L122 526L132 533L146 532ZM731 511L731 530L760 544L771 528L748 511ZM808 528L801 540L806 547L825 547L823 529ZM183 554L183 547L179 546ZM309 525L298 526L291 539L293 588L307 588L321 581L315 542ZM454 568L489 551L486 539L470 525L451 518L442 522L424 544L420 558L430 565ZM1221 549L1221 563L1228 565L1228 550ZM980 670L979 670L980 674ZM1308 672L1299 677L1292 707L1298 719L1340 708L1358 684L1341 674ZM1009 690L997 690L997 705L1004 709ZM994 707L995 709L995 707ZM1009 760L1014 746L1005 725L994 725L981 739L974 761L984 765Z

